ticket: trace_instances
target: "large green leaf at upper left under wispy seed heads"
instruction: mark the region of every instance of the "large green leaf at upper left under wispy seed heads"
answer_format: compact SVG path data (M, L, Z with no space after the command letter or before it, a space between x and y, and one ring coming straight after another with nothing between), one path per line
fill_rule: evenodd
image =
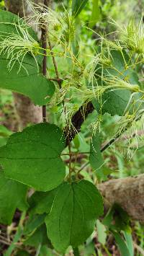
M1 32L3 34L5 32L17 34L17 24L17 15L12 14L11 12L0 11L0 35ZM30 29L30 35L37 40L35 32L33 32L32 29ZM39 70L37 70L35 59L29 53L25 55L22 62L23 67L20 69L20 71L19 61L16 61L11 71L9 71L7 68L8 63L9 59L7 59L7 56L1 54L1 89L9 89L13 92L24 94L27 97L30 97L35 105L45 105L50 101L50 97L55 92L55 86L52 81L49 81L45 78L45 76L42 75L41 66L39 66Z

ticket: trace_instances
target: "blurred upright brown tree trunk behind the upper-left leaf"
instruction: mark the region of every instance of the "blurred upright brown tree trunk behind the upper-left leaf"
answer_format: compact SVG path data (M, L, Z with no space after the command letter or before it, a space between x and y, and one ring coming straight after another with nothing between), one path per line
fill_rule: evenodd
M36 0L43 2L42 0ZM6 9L14 14L19 14L19 17L30 15L30 10L25 0L5 0ZM14 94L14 104L19 118L19 128L23 129L29 123L42 122L42 107L35 106L30 98L16 92Z

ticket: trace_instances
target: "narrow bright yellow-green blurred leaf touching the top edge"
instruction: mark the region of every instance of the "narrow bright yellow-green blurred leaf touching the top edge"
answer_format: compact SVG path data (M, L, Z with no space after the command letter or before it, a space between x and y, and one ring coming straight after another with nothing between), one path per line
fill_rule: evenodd
M91 18L89 20L89 27L93 28L100 19L99 0L93 0Z

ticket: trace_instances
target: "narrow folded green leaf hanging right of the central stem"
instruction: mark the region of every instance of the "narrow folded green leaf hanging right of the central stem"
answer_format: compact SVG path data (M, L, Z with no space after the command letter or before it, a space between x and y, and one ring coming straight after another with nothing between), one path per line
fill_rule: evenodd
M94 171L100 169L101 172L101 167L104 164L104 159L101 153L101 138L99 136L99 132L96 132L96 134L91 139L89 162Z

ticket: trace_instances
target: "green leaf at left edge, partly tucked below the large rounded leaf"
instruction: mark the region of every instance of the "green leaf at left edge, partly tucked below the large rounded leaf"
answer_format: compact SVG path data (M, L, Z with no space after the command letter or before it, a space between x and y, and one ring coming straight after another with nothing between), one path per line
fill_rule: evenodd
M0 172L0 223L11 224L14 212L21 200L25 200L27 186L9 180Z

